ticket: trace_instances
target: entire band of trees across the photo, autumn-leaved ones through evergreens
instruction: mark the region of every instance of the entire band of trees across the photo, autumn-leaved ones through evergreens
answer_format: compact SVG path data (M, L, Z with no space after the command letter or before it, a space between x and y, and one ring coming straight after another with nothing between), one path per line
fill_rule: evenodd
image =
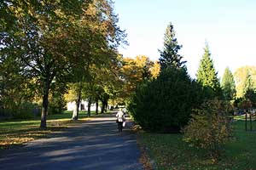
M125 104L137 122L139 115L147 127L154 119L177 131L205 99L237 96L237 105L254 99L255 68L241 68L235 79L226 69L220 83L207 44L196 80L189 77L172 24L159 61L123 58L118 47L127 44L126 34L118 21L110 0L1 1L1 115L28 116L41 105L40 127L46 127L47 114L61 113L67 101L75 101L72 119L78 120L81 99L87 99L88 116L92 103L102 111ZM172 119L167 127L162 123Z

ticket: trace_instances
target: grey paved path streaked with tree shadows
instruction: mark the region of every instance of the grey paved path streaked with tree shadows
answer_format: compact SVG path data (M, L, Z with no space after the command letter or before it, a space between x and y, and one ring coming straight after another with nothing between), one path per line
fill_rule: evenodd
M38 139L26 146L0 152L0 169L143 169L139 150L130 132L131 122L118 133L113 115Z

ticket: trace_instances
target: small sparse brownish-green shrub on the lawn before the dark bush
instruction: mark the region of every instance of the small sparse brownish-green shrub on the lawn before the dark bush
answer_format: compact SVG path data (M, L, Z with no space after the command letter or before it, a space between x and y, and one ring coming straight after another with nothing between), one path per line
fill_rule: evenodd
M205 149L214 161L218 160L222 145L230 139L232 130L227 113L230 104L210 100L195 110L189 125L183 129L183 140L191 146Z

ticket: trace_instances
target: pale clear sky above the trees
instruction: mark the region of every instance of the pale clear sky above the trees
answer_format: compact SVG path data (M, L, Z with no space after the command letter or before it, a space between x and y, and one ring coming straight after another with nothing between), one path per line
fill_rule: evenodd
M147 55L159 59L166 26L172 22L180 54L195 77L207 40L218 77L256 65L255 0L115 0L119 26L130 43L119 48L124 57Z

